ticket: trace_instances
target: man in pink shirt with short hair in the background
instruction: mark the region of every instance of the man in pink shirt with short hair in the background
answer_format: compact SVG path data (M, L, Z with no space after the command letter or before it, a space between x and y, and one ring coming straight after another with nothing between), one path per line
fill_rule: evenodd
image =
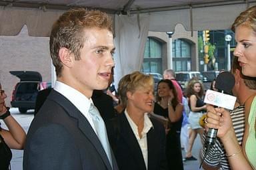
M175 80L175 72L172 69L165 70L163 72L163 79L171 80L171 82L173 83L173 86L175 86L175 89L176 89L176 92L177 92L177 95L178 95L178 100L179 100L179 102L182 103L183 92L182 92L181 86Z

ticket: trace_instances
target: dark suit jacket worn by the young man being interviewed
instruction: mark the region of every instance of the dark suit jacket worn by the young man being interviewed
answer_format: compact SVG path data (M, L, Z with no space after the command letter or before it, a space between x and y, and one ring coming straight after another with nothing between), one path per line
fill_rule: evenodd
M113 169L118 169L112 153ZM35 116L25 143L23 170L111 169L91 125L55 90Z

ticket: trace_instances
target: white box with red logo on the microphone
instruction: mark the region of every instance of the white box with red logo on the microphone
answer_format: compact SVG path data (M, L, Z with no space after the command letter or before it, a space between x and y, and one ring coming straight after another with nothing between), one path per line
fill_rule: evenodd
M233 110L237 98L229 94L223 94L213 90L207 90L204 102L221 108Z

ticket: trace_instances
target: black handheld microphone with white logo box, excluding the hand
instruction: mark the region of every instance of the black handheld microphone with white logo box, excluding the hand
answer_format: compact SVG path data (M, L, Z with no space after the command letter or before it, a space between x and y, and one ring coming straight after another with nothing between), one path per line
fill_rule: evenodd
M217 76L216 82L215 82L215 88L217 88L217 90L219 90L219 92L221 93L214 92L214 93L211 93L211 95L205 95L205 103L213 104L218 107L221 106L222 108L228 108L233 110L236 98L234 96L227 95L227 94L231 94L234 85L235 85L235 77L233 76L233 74L227 71L221 72ZM207 132L207 136L205 139L205 146L207 147L207 152L209 151L211 145L215 143L217 131L218 129L209 128Z

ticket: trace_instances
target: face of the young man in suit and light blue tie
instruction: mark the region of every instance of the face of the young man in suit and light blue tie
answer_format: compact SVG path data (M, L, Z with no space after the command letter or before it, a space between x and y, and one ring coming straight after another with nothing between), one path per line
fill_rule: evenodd
M86 29L80 60L70 68L72 86L90 97L93 90L107 88L113 62L113 35L107 29ZM65 76L65 75L63 75Z

